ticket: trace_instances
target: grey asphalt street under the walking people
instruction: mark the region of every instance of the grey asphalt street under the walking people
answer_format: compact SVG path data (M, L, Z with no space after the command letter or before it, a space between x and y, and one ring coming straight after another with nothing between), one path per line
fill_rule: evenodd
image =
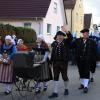
M79 87L79 77L76 66L69 66L68 70L69 76L69 95L64 96L64 85L63 81L59 81L59 96L55 100L99 100L100 97L100 68L96 69L95 80L89 85L89 91L87 94L84 94L82 90L78 90ZM49 100L48 96L53 92L53 81L48 83L49 87L46 92L41 92L38 95L35 95L34 92L21 92L23 96L19 95L19 92L13 89L12 95L5 96L0 93L0 100ZM2 85L1 85L2 86ZM0 88L0 92L3 91L3 88ZM13 99L12 99L13 96Z

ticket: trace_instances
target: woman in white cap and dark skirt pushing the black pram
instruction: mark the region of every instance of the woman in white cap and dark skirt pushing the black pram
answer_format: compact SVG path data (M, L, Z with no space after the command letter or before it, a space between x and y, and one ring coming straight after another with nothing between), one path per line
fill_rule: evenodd
M43 91L47 90L47 81L51 80L52 75L49 68L49 48L47 43L44 41L43 35L38 35L36 43L33 46L35 51L34 63L40 63L41 68L39 70L40 77L36 81L35 93L41 92L41 82L43 83Z

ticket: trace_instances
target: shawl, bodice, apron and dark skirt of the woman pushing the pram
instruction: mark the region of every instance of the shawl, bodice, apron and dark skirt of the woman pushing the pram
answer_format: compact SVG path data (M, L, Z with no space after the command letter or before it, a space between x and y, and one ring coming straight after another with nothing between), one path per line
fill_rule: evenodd
M33 46L33 50L35 51L36 56L34 57L34 63L36 62L41 62L40 67L38 67L38 71L36 72L35 75L39 76L38 77L38 82L43 82L43 81L49 81L52 79L52 74L51 74L51 69L49 67L49 48L48 45L45 42L42 42L41 44L35 44ZM37 80L37 79L36 79Z

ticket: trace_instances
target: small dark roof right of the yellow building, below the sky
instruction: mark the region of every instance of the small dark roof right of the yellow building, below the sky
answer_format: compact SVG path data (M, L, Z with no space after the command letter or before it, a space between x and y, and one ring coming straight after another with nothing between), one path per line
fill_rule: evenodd
M90 28L92 14L84 14L84 28Z

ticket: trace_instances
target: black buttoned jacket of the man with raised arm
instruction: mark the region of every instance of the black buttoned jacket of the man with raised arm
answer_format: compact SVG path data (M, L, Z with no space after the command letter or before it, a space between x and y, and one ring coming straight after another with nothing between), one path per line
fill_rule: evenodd
M52 53L51 53L51 62L68 62L69 56L69 46L72 41L72 35L67 34L66 39L64 39L61 43L54 41L52 46Z

